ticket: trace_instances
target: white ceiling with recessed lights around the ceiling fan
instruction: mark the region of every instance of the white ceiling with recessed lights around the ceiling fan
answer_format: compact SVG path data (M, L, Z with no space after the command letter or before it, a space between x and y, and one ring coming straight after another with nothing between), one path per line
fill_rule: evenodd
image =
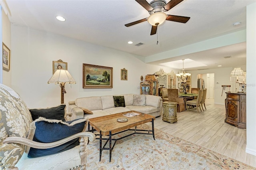
M255 2L184 0L166 14L188 16L190 20L186 24L165 21L158 26L158 34L152 36L148 22L124 26L149 16L135 0L3 0L0 3L8 9L10 22L14 25L53 32L147 57L246 29L246 6ZM58 15L66 18L66 22L56 20ZM234 27L234 22L242 24ZM128 44L128 41L134 43ZM144 45L135 46L137 43ZM224 59L225 56L231 58ZM189 70L217 68L216 65L246 65L246 43L174 57L171 60L180 60L182 63L181 59L187 58L207 65ZM185 60L184 68L189 68L188 65Z

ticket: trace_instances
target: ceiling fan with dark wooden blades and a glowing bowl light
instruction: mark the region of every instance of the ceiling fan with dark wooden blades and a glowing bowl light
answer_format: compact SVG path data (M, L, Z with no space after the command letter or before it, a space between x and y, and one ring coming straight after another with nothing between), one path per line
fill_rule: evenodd
M136 0L143 8L145 8L150 16L142 20L134 21L129 24L125 24L126 27L139 24L144 21L148 21L152 25L150 35L156 34L157 26L162 24L165 20L186 23L190 17L186 16L175 16L168 15L165 12L172 9L174 6L178 5L183 0L171 0L166 4L164 0L154 0L150 4L146 0Z

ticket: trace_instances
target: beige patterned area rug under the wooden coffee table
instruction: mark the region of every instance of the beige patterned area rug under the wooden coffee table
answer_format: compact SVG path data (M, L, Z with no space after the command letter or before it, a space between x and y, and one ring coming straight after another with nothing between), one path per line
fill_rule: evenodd
M148 125L138 128L151 130ZM116 135L124 136L131 131ZM87 145L87 170L234 170L256 169L242 162L155 129L152 135L134 134L118 140L112 150L102 151L99 140Z

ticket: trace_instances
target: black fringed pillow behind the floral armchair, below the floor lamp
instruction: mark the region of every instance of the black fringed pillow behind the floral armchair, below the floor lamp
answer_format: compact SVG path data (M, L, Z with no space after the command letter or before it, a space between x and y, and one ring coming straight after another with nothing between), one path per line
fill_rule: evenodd
M44 117L46 119L57 119L65 121L65 110L66 105L58 105L56 107L48 107L45 109L30 109L30 113L33 121L38 119L39 117Z

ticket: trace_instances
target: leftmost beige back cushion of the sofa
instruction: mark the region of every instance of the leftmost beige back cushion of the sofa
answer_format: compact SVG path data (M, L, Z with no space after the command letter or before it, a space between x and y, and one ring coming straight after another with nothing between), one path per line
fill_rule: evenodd
M114 103L114 101L113 101ZM100 97L82 97L76 99L76 106L84 107L90 111L103 110ZM114 107L114 104L113 104Z

